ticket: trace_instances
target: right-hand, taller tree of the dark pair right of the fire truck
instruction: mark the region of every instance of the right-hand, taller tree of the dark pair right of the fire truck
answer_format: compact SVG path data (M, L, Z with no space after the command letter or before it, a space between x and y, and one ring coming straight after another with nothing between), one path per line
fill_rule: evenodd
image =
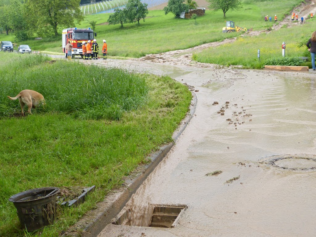
M148 14L147 6L147 3L141 3L140 0L129 0L125 7L127 19L131 22L137 21L139 25L140 19L145 21Z

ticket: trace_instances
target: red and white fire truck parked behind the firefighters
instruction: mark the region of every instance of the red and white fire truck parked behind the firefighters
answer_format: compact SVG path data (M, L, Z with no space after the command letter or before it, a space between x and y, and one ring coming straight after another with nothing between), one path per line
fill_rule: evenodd
M68 41L73 45L71 55L74 58L76 55L82 57L82 41L93 41L97 33L93 33L93 30L89 27L88 29L79 28L67 28L62 33L62 49L67 58L66 45Z

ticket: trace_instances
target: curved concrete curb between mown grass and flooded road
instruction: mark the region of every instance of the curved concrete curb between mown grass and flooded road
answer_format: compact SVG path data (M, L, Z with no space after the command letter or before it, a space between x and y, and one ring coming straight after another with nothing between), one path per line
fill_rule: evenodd
M105 201L98 203L98 208L91 210L83 216L75 225L70 227L62 236L72 236L78 234L78 231L82 231L82 237L97 236L107 224L109 224L113 217L117 216L119 212L126 205L131 196L137 191L143 181L148 175L155 169L155 167L162 161L162 159L168 154L170 149L174 146L186 126L194 116L197 107L197 96L192 93L192 100L190 105L190 111L181 121L180 126L173 133L173 142L168 143L160 147L159 151L149 155L151 162L145 166L140 167L141 173L131 174L125 178L125 183L119 189L112 190L105 197Z

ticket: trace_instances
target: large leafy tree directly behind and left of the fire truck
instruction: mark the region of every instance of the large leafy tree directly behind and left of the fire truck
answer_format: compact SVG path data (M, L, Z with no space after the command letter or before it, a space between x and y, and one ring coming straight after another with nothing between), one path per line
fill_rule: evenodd
M74 26L74 21L78 23L83 20L79 8L80 0L27 0L27 19L30 26L36 28L47 28L43 32L52 31L58 35L58 27Z

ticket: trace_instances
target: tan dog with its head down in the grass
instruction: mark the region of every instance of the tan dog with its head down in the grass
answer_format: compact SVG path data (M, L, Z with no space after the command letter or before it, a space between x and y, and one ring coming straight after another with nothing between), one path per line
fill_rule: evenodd
M35 106L40 106L41 104L44 106L45 105L45 99L44 96L40 93L38 93L37 91L34 90L22 90L17 96L15 97L10 97L9 95L7 95L7 97L10 100L16 100L19 99L20 101L20 105L21 105L21 110L22 110L22 116L24 116L24 106L25 104L28 107L27 112L31 113L31 108L35 108Z

